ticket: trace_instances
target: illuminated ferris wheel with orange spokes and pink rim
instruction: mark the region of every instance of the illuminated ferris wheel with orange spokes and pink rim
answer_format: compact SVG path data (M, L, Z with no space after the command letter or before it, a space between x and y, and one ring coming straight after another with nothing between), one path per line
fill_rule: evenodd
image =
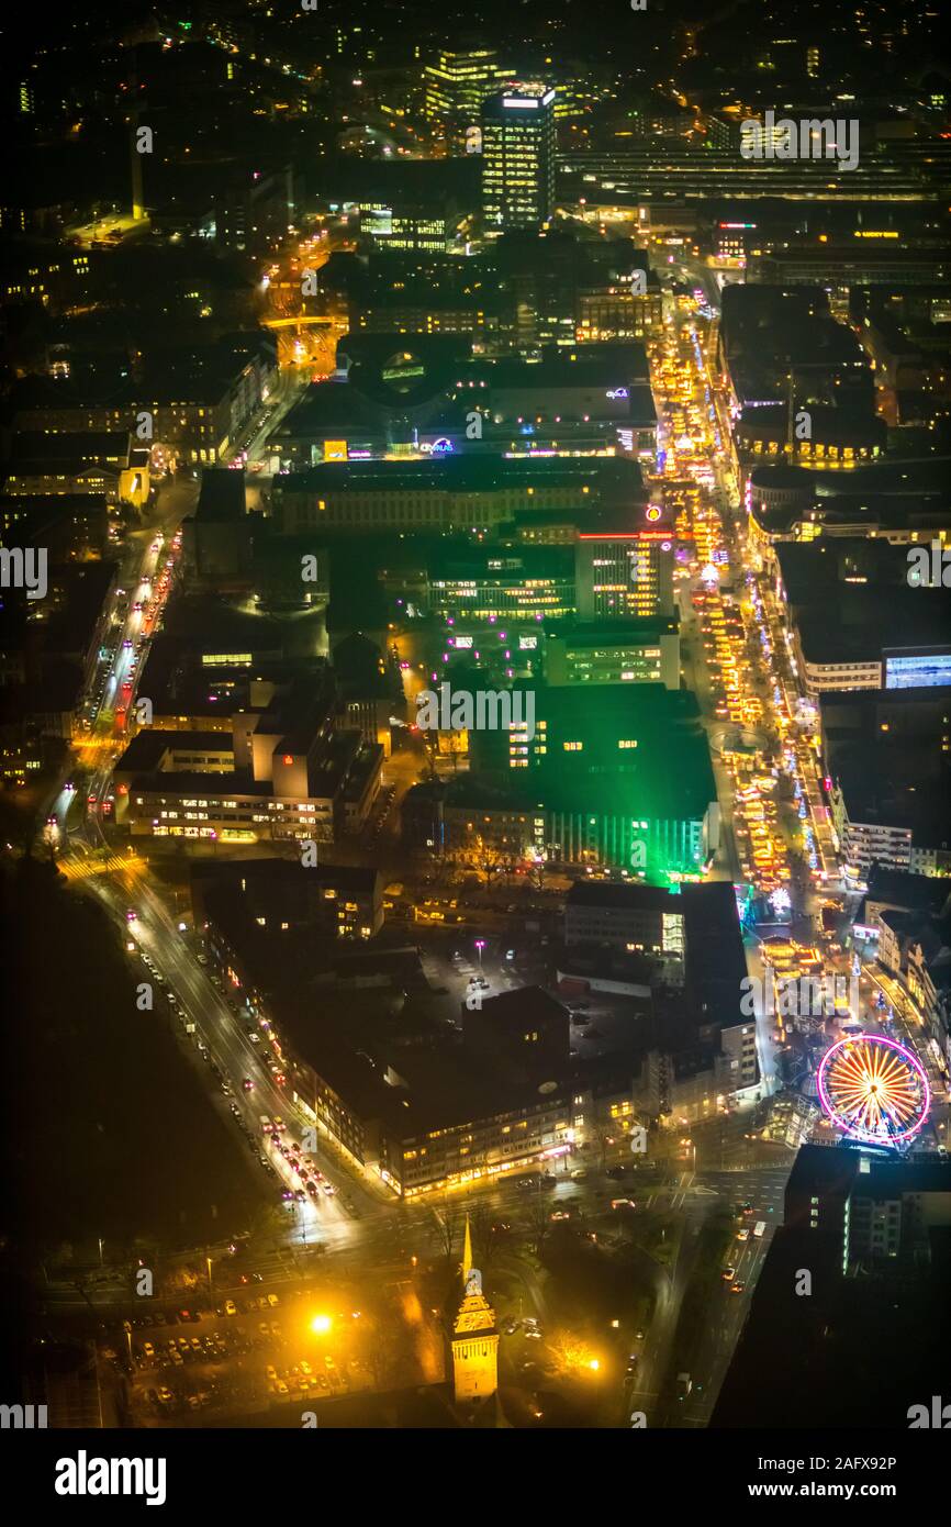
M849 1139L904 1145L931 1107L924 1066L905 1044L884 1034L855 1034L826 1051L818 1067L826 1118Z

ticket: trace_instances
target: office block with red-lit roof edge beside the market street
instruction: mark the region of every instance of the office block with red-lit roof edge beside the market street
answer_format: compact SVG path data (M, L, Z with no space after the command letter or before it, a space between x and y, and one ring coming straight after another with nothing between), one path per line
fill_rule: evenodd
M673 538L664 530L585 531L575 542L579 620L673 614Z

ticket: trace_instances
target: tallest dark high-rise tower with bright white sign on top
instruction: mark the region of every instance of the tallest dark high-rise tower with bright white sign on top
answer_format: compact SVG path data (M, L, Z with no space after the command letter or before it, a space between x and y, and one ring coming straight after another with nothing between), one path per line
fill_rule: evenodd
M519 87L482 107L482 217L498 238L554 211L554 90Z

